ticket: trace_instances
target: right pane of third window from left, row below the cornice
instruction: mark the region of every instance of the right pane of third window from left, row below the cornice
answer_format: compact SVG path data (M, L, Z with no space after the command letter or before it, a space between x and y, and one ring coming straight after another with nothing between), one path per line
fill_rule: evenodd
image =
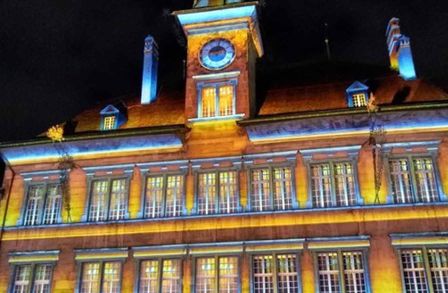
M165 214L167 217L178 217L182 214L183 190L184 176L172 175L167 177Z

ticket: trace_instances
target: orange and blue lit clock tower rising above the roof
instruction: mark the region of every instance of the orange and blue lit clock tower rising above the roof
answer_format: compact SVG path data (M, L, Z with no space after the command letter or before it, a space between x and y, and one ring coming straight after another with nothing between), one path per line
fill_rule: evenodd
M185 113L189 122L255 114L255 63L263 55L258 3L196 1L177 11L187 38Z

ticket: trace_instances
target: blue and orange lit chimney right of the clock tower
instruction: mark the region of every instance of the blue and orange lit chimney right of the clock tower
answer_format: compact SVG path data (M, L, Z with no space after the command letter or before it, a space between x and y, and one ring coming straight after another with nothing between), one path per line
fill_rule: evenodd
M398 71L400 76L406 80L417 78L414 59L412 58L411 42L408 37L401 34L400 19L394 17L389 21L386 38L390 67Z

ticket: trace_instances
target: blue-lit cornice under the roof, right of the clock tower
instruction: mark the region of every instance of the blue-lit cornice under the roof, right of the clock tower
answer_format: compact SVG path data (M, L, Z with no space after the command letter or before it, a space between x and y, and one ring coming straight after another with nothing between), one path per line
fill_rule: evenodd
M439 132L448 130L448 104L438 108L386 109L376 114L377 126L389 134ZM364 111L343 110L338 113L297 114L239 122L253 143L277 143L369 135L372 118Z

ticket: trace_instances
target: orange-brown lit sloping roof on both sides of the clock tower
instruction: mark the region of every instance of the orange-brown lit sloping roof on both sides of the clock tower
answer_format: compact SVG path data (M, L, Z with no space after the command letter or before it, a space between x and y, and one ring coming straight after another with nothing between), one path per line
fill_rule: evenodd
M405 81L389 69L344 63L302 64L263 70L257 79L257 117L347 108L346 90L354 82L367 85L379 105L446 101L448 94L425 80ZM140 97L115 99L74 118L76 132L99 130L100 112L109 104L127 107L120 129L161 127L185 123L184 89L164 87L154 103L141 105Z

